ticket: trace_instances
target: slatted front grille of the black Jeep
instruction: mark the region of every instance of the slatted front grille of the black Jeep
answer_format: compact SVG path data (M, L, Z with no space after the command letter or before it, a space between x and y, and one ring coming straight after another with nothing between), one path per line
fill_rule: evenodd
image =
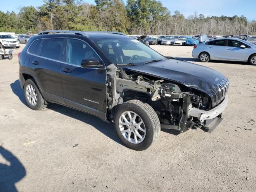
M212 89L208 89L208 92L212 98L212 106L220 103L228 93L229 81L227 78L224 78L221 82L213 86Z

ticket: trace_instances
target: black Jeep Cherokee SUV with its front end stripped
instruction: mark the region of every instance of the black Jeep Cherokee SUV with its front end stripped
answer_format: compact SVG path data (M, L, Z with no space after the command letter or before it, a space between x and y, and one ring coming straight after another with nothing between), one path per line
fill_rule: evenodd
M54 102L98 116L114 123L134 150L148 148L160 128L211 132L228 102L229 82L221 73L164 57L120 34L40 32L19 64L30 108Z

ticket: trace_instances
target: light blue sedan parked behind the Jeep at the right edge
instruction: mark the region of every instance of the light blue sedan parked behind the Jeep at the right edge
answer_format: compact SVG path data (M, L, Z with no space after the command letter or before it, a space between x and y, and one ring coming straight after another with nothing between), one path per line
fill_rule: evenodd
M249 62L256 65L256 45L238 38L220 38L200 43L192 51L201 62L228 60Z

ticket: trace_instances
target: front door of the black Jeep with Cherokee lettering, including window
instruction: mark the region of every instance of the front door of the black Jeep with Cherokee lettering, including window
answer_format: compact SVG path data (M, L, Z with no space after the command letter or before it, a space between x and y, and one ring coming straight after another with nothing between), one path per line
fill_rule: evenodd
M99 56L84 41L68 39L65 63L60 74L65 102L68 106L105 118L106 68L83 68L86 58Z

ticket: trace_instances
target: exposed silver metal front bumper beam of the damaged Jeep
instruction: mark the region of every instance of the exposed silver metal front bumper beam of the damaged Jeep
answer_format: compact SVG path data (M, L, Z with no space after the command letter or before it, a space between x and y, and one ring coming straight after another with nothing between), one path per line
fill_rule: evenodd
M215 108L209 111L200 110L190 106L188 109L189 110L188 114L189 114L189 117L190 116L197 117L200 120L213 119L213 118L216 118L225 110L227 104L228 104L228 96L225 97L225 99L221 102L221 104L219 104L218 106L216 106Z

